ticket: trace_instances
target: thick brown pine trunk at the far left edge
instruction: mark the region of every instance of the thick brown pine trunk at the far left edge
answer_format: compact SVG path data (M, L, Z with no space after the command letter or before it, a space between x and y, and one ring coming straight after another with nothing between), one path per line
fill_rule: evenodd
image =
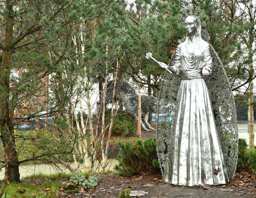
M6 1L8 14L5 17L5 38L2 52L2 65L0 85L2 87L2 102L0 106L0 132L5 154L5 179L20 182L20 173L13 132L13 110L10 110L10 60L13 51L13 6L11 1Z

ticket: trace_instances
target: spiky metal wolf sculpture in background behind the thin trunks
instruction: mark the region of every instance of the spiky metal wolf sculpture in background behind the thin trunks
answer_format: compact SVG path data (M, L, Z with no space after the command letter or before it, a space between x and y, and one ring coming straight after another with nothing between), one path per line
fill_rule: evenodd
M106 105L112 103L114 91L114 81L108 81L107 91L106 91ZM123 81L116 81L115 86L115 100L121 104L126 111L138 121L138 94L136 93L134 87L129 83ZM156 112L156 99L148 95L141 96L141 127L150 131L154 129L147 122L146 114ZM149 129L147 129L147 127Z

